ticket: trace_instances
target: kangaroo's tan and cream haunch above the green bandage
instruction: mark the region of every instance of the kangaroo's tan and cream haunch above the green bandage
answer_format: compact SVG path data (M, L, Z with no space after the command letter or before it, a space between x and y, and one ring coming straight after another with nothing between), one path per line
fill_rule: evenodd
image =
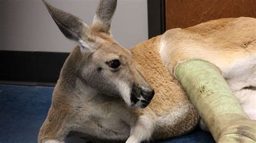
M159 52L171 73L178 61L190 58L211 61L226 70L236 59L255 54L255 27L255 18L240 17L172 29L163 34Z

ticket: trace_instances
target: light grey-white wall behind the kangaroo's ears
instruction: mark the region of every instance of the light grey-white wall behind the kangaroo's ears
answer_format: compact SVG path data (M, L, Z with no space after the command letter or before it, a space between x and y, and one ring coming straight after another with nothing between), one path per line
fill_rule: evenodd
M99 0L46 0L91 25ZM70 52L41 0L0 0L0 50ZM126 48L147 39L147 1L118 0L112 35Z

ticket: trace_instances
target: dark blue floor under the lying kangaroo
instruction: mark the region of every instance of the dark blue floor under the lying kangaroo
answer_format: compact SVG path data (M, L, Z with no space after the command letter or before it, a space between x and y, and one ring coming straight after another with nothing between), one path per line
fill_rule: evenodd
M0 84L0 142L37 142L39 128L51 105L53 87ZM214 142L197 128L181 137L156 142Z

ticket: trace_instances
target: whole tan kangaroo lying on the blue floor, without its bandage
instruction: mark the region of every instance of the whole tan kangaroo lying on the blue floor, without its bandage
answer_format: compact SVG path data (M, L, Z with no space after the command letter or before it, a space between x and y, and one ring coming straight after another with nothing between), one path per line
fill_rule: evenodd
M255 98L254 91L245 89L256 86L253 18L169 30L130 52L110 34L116 0L100 1L92 26L43 2L63 34L80 46L64 63L38 142L64 142L73 132L91 140L126 142L190 132L199 116L173 76L178 61L189 58L213 62L234 92ZM252 101L245 103L255 109Z

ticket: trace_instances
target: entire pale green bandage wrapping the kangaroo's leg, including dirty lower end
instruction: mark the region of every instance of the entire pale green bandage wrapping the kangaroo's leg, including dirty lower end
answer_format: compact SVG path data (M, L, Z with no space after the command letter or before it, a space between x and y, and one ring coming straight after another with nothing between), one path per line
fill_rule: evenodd
M241 108L218 67L191 59L176 67L175 76L217 142L255 142L256 123Z

